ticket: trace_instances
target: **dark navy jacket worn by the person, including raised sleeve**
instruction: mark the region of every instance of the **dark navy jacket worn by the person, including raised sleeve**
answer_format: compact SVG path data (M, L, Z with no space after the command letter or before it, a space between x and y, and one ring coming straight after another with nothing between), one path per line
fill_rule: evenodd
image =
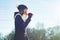
M15 12L14 16L19 13ZM25 33L25 28L29 24L31 20L32 14L30 13L26 22L24 22L21 18L20 15L17 15L15 18L15 36L14 40L25 40L24 33Z

